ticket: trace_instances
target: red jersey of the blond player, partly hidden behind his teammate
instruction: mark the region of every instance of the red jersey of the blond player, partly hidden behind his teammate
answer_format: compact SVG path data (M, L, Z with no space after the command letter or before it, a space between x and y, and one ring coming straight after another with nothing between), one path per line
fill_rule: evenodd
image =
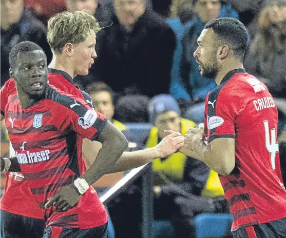
M93 107L90 96L86 92L75 87L72 84L72 77L68 75L66 72L61 70L49 69L48 80L50 85L53 85L64 92L68 92L72 95L81 97L87 102L87 104L90 107ZM17 96L17 91L15 87L15 82L12 78L10 78L1 89L0 109L2 115L5 116L5 108L7 103L10 102L11 100L14 100L16 96ZM8 122L7 126L8 127L11 126L11 123ZM75 153L77 153L78 156L81 156L82 154L81 136L77 137L77 145L78 145L77 151L75 151ZM24 176L21 173L10 173L10 172L6 173L6 184L5 184L5 191L1 199L1 209L14 214L34 217L36 219L44 219L43 209L40 209L39 206L37 206L33 194L31 193L31 189L28 186L28 183L25 181L25 178L23 177ZM108 220L107 213L105 211L105 208L102 207L102 204L99 201L99 199L97 204L98 205L94 209L97 209L98 211L98 221L107 221ZM104 224L104 222L102 224Z

